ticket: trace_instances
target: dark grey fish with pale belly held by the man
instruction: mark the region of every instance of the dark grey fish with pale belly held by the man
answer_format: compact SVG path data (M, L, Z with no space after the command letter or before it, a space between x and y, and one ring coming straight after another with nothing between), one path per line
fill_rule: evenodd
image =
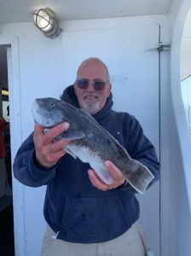
M35 99L32 115L45 132L55 125L69 123L69 129L55 137L55 141L70 139L71 142L64 147L65 151L74 159L89 163L107 185L113 183L113 177L104 165L106 160L119 168L126 181L139 194L143 194L153 180L153 173L148 167L132 159L126 149L82 108L75 108L53 97L44 97Z

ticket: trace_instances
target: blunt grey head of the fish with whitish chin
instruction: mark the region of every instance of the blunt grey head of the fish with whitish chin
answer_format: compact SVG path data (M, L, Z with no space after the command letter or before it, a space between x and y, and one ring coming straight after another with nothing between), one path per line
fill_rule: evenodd
M32 115L38 125L47 128L68 122L66 104L51 97L36 99L32 105Z

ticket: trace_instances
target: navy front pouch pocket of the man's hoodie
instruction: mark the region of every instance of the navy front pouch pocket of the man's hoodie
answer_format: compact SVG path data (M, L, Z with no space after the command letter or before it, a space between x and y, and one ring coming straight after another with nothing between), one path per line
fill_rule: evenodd
M108 241L127 230L126 215L119 195L67 197L57 238L83 243Z

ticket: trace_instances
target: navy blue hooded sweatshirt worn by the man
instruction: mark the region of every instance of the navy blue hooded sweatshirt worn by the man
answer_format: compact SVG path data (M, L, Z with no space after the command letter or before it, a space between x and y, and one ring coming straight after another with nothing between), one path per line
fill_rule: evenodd
M72 85L64 90L61 100L79 108ZM159 178L159 162L152 143L132 115L115 112L112 106L111 94L104 108L93 117L126 148L131 158L148 166L154 183ZM35 158L32 136L33 133L16 154L14 177L31 187L47 185L44 218L58 239L79 243L109 241L136 222L139 203L136 190L129 183L107 191L96 189L88 177L90 165L73 159L70 154L45 170Z

